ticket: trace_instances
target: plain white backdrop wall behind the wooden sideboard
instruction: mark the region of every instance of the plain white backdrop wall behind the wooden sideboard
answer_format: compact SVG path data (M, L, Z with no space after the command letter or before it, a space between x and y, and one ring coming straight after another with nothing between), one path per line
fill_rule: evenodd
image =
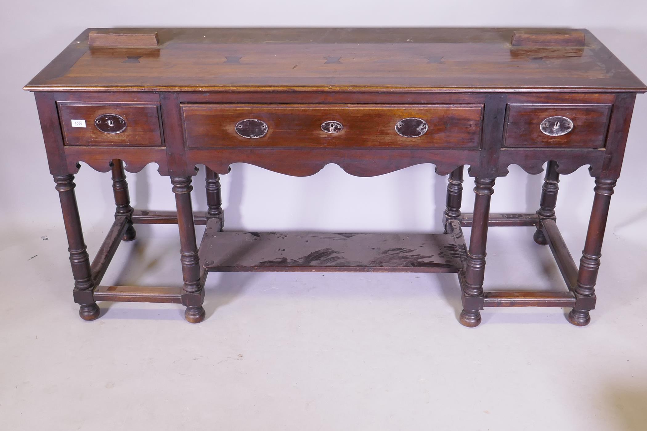
M0 235L12 240L61 227L58 196L49 175L36 106L21 90L86 27L111 26L566 26L589 28L643 81L647 81L647 2L563 1L120 1L80 3L3 2L0 17L1 100ZM626 162L611 205L608 233L637 245L646 239L645 177L647 96L638 96ZM172 209L167 177L156 165L129 174L133 206ZM542 175L519 167L499 178L492 211L537 209ZM204 209L204 173L194 182L195 207ZM85 230L109 227L114 205L109 174L84 166L76 179ZM417 165L375 178L356 178L336 165L307 178L292 178L236 164L222 178L228 229L322 231L436 231L444 207L446 178L432 165ZM472 181L466 178L464 211L471 211ZM583 237L593 199L586 167L562 177L558 218ZM561 222L564 220L564 222ZM164 232L169 232L165 230ZM0 244L2 242L0 241ZM574 249L581 249L575 244Z

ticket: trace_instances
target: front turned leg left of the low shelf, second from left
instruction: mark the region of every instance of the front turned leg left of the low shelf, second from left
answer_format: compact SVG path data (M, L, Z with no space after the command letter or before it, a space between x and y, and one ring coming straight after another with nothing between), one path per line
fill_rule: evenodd
M180 231L180 253L182 255L182 279L184 288L182 304L186 306L184 317L190 323L204 320L204 292L200 283L200 260L195 242L195 225L193 223L193 208L191 205L192 178L171 178L175 206L177 207L177 226Z

